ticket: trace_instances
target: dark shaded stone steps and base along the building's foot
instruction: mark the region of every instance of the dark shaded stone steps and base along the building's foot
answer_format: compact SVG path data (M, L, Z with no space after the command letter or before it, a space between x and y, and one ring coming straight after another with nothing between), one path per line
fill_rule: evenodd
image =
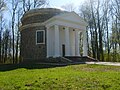
M89 56L66 56L66 57L50 57L50 58L41 58L38 60L24 60L22 63L61 63L61 64L69 64L75 62L91 62L91 61L98 61Z

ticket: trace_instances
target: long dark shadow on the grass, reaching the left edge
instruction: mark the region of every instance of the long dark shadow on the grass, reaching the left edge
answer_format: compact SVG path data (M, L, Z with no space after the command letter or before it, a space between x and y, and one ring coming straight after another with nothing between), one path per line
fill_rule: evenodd
M10 71L19 68L26 69L44 69L44 68L54 68L54 67L63 67L66 65L49 65L49 64L4 64L0 65L0 71Z

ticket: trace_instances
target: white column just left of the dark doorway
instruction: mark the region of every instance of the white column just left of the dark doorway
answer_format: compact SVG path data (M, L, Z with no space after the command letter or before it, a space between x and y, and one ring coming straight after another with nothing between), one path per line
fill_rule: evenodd
M55 57L60 56L60 47L59 47L59 26L55 25Z

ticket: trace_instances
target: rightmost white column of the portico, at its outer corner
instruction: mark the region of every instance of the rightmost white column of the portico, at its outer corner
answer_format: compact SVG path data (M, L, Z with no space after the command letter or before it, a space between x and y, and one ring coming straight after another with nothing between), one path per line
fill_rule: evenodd
M83 31L83 56L88 56L87 33L86 33L86 30Z

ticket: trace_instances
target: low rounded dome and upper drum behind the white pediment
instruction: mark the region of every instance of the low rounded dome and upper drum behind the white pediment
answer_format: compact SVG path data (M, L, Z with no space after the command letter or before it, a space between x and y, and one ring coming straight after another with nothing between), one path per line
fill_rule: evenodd
M40 9L31 9L27 11L21 18L22 25L32 24L32 23L41 23L44 22L53 16L66 13L56 8L40 8Z

